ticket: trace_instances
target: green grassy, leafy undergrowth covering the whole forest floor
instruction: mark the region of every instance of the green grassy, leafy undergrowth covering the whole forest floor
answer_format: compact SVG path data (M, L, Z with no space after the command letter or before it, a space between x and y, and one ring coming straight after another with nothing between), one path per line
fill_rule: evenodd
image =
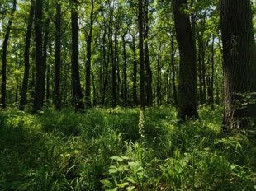
M225 135L222 109L0 114L0 190L254 190L255 133Z

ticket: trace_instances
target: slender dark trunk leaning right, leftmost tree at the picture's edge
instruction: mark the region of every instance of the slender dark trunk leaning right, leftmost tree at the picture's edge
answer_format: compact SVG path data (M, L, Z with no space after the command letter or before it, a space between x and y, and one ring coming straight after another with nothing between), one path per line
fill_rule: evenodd
M8 40L10 36L10 31L12 27L12 19L14 12L16 11L16 5L17 5L17 0L13 0L12 3L12 12L11 16L12 18L8 21L7 25L7 32L4 36L4 40L2 43L2 84L1 84L1 105L2 108L6 107L6 96L7 96L7 45L8 45Z

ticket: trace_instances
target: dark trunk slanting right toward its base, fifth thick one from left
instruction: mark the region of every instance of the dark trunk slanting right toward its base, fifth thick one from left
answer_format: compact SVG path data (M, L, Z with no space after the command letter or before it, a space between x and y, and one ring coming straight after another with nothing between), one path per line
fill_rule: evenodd
M83 95L80 84L79 76L79 62L78 62L78 0L72 0L72 11L71 11L71 26L72 26L72 86L73 86L73 102L75 105L75 111L82 111Z

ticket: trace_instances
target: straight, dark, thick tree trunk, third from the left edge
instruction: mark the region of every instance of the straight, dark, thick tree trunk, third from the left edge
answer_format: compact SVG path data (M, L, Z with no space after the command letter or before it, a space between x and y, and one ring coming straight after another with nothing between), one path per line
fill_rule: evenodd
M43 1L36 0L35 12L35 36L36 36L36 85L34 94L33 112L39 111L43 107L44 100L44 63L42 55L42 12Z

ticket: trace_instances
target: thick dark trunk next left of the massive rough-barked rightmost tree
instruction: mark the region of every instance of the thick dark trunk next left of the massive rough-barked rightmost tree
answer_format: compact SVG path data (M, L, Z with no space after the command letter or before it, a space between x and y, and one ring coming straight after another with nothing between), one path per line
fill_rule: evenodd
M184 5L187 5L187 0L173 0L174 23L180 53L178 117L197 119L196 50L189 16L181 12Z

